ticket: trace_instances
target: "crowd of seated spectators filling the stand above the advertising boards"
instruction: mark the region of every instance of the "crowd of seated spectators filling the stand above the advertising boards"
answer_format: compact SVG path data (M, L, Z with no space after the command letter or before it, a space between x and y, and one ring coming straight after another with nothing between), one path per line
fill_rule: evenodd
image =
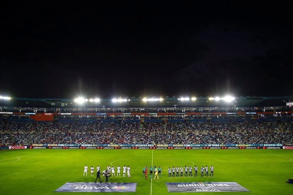
M0 145L293 143L293 122L0 122Z

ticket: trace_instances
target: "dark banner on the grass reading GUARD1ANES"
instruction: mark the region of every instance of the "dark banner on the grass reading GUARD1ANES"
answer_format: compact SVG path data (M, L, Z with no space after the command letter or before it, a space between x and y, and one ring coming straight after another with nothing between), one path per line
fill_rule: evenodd
M235 182L165 183L168 192L250 192Z

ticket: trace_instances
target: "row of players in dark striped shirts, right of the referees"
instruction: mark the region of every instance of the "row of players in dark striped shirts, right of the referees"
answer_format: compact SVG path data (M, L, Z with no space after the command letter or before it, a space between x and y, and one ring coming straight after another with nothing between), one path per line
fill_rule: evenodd
M195 165L195 167L193 168L194 169L194 177L197 177L197 171L198 171L198 168L197 168L197 166ZM174 168L174 166L172 167L172 168L168 168L168 176L169 176L169 178L175 178L175 172L176 172L176 178L177 178L177 176L178 176L178 178L179 178L179 170L180 170L180 177L183 177L183 168L182 168L182 166L180 166L180 168L178 168L178 166L176 167L176 168ZM188 172L189 172L189 176L188 176ZM205 176L204 176L204 172L205 172ZM191 166L189 166L189 167L184 167L184 177L192 177L192 168L191 168ZM206 165L205 166L205 168L204 168L204 166L202 166L201 167L201 177L206 177L206 176L208 176L208 165ZM211 165L211 167L210 167L210 176L208 176L208 177L211 177L211 176L213 176L214 177L214 167L213 167L213 165Z

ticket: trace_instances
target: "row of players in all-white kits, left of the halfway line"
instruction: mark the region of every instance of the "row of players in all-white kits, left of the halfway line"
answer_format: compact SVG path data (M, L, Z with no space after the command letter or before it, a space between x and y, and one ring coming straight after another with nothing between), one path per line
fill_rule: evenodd
M90 169L91 169L91 177L92 177L92 176L94 176L95 168L92 166ZM118 174L119 174L119 177L120 177L120 169L121 169L121 167L120 167L120 165L118 165L118 167L117 167L117 177L118 177ZM131 175L130 175L130 167L129 166L126 167L124 165L122 167L122 169L123 169L123 176L122 177L125 177L126 170L127 170L127 177L131 177ZM97 175L98 175L98 173L100 174L100 166L99 165L97 166ZM106 176L106 175L110 175L110 173L112 173L112 176L115 177L115 168L114 168L114 166L112 166L110 168L110 166L108 165L108 167L105 170L103 170L103 172L102 172L103 177ZM84 167L83 177L85 175L88 176L88 166L87 165L85 165L85 167Z

